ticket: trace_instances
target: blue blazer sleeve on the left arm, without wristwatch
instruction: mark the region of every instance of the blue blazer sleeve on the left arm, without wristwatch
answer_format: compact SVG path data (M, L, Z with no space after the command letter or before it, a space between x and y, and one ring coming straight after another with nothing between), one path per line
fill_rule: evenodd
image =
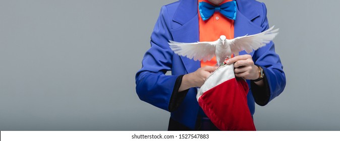
M167 111L176 80L179 77L165 75L172 68L174 53L168 45L168 41L172 40L169 25L167 9L163 6L151 34L151 47L144 54L142 68L135 78L138 97L142 101Z

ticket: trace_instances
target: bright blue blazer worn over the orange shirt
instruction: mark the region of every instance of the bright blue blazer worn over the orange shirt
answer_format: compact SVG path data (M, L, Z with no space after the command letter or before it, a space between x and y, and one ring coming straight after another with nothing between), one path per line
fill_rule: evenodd
M260 33L269 28L267 10L263 3L253 0L236 2L238 11L234 22L235 37ZM136 74L136 92L139 98L167 111L177 77L195 72L200 67L200 61L179 56L168 45L169 40L188 43L199 41L197 3L197 0L182 0L161 8L151 34L151 48L145 53L142 68ZM246 52L240 52L242 54ZM286 86L285 73L280 58L275 53L274 43L271 42L250 54L255 64L263 67L269 84L270 101ZM172 76L165 75L169 70L172 71ZM250 81L247 82L250 87ZM196 94L197 89L190 88L179 108L171 113L174 120L192 129L195 127L199 109ZM253 115L255 102L251 90L247 98Z

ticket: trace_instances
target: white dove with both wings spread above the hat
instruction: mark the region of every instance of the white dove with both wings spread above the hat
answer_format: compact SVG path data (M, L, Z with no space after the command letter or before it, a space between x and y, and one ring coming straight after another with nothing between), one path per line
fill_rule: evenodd
M258 34L237 37L231 40L221 35L219 39L212 42L181 43L169 41L170 48L178 55L186 56L194 60L211 60L216 56L217 66L220 66L226 58L230 58L234 53L246 50L250 53L260 47L265 46L278 34L278 29L273 30L274 26Z

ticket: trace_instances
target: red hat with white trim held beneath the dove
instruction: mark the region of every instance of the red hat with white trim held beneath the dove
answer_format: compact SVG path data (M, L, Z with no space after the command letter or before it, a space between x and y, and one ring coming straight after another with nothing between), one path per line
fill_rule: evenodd
M205 81L197 101L220 130L256 130L247 104L248 84L235 78L234 64L222 65Z

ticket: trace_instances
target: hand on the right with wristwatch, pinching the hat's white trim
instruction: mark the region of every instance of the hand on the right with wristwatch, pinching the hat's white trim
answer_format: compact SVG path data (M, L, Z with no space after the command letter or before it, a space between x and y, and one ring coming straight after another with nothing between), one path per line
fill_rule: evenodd
M235 76L246 80L256 80L260 77L259 67L254 64L251 55L239 55L230 58L226 64L234 63Z

